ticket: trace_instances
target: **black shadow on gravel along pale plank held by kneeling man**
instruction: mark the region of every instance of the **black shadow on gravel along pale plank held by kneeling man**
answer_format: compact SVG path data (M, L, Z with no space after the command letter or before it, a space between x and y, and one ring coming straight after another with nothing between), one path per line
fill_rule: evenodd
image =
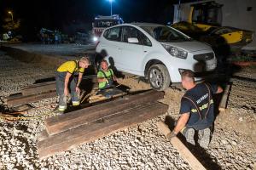
M175 120L172 119L171 116L166 116L165 123L172 130L175 125ZM195 137L197 136L198 134L195 133ZM201 162L201 164L204 167L206 167L209 170L221 169L218 163L215 162L217 161L217 159L215 159L213 156L210 156L205 149L201 148L199 144L195 144L195 146L192 144L188 144L181 133L177 134L177 138L180 139L183 142L183 144L187 146L191 153L196 157L196 159L198 159L198 161ZM195 138L195 141L197 141L197 138Z

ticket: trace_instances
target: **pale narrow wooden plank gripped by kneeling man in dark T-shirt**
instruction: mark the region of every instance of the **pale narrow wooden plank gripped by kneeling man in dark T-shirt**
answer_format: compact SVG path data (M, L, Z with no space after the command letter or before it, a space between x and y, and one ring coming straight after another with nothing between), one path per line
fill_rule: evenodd
M160 129L162 133L167 137L168 134L171 133L169 127L164 122L158 122L157 127ZM198 161L195 156L188 150L188 148L177 138L174 137L171 140L171 143L175 149L183 156L183 159L189 163L189 166L194 170L206 170L205 167L202 166L201 162Z

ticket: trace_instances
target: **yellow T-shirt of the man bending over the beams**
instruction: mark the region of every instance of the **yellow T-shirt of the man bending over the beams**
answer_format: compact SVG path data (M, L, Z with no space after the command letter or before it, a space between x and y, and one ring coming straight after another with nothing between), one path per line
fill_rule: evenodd
M73 72L76 72L76 71L84 73L84 68L79 68L79 61L75 60L75 61L67 61L63 63L61 66L59 66L57 71L59 72L67 71L67 72L70 72L71 74L73 74Z

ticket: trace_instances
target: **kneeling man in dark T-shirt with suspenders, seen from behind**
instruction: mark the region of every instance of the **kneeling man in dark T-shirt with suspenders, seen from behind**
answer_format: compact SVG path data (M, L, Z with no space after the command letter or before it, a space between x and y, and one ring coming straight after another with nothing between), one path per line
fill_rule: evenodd
M195 144L195 130L198 131L198 144L207 148L212 134L214 122L214 105L212 94L219 94L223 89L209 83L195 84L192 71L181 74L183 88L187 92L181 99L180 114L171 138L181 132L190 144Z

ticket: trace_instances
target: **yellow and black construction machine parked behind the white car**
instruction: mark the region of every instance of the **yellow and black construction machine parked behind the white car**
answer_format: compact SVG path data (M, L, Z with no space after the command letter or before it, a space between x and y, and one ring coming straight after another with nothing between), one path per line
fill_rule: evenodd
M222 7L222 4L214 1L191 4L187 20L177 22L172 27L212 46L226 43L230 48L242 48L252 42L253 31L221 26Z

